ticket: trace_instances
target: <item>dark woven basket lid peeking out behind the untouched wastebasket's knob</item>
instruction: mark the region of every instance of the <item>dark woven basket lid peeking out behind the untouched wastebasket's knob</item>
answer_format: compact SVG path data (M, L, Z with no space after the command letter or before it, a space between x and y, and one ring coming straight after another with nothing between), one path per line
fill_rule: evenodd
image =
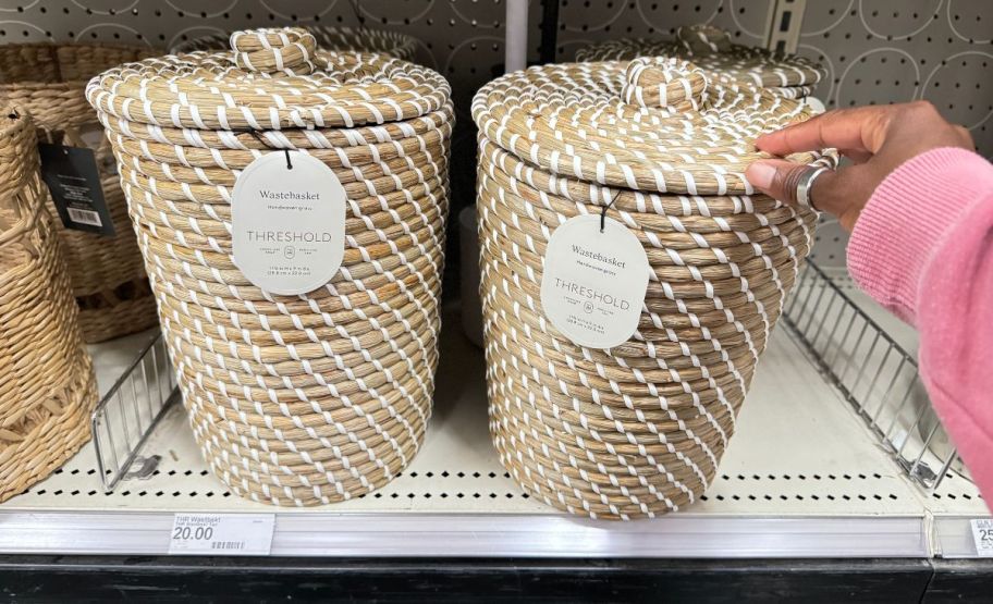
M417 53L417 40L399 32L385 29L353 29L352 27L329 27L312 25L305 27L317 39L317 47L323 50L378 52L395 59L413 61ZM172 52L194 52L205 50L217 52L228 50L229 36L214 34L183 41L172 48Z

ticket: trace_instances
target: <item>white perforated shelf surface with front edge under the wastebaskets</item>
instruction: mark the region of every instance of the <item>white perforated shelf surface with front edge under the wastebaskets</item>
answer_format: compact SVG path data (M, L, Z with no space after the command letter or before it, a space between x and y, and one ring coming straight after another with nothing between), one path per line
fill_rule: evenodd
M101 389L148 337L95 347ZM425 446L376 493L307 509L241 500L205 469L177 405L142 452L161 456L155 473L105 493L87 445L0 505L0 553L166 554L177 511L272 511L272 555L289 556L969 556L961 529L989 514L963 478L933 495L905 479L785 328L771 340L704 501L627 523L565 516L523 493L490 444L482 354L452 313L441 358Z

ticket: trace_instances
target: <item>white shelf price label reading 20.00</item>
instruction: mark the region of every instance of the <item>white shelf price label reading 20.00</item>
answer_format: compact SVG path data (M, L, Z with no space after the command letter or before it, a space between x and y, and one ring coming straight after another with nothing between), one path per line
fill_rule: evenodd
M169 553L268 556L274 528L273 514L176 514Z

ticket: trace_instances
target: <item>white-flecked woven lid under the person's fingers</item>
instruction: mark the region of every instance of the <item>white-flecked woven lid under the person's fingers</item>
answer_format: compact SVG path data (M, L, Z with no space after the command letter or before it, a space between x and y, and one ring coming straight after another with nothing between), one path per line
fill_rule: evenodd
M487 84L473 101L485 136L531 167L691 195L752 193L745 169L769 157L753 140L811 114L801 101L675 58L531 67Z

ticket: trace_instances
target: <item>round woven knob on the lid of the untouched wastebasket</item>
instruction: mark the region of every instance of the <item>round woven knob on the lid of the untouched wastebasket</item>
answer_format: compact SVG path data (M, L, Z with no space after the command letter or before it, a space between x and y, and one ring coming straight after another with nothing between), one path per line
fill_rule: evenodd
M317 40L301 27L267 27L231 34L234 62L256 73L306 75L316 70Z

